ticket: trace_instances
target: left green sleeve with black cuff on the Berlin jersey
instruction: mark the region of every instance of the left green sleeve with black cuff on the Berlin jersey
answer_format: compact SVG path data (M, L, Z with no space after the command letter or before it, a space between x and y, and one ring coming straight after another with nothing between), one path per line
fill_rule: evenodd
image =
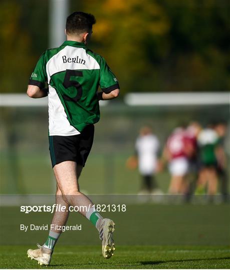
M45 87L47 81L46 74L46 63L45 63L45 52L39 58L34 71L31 74L29 84L39 86L40 88Z

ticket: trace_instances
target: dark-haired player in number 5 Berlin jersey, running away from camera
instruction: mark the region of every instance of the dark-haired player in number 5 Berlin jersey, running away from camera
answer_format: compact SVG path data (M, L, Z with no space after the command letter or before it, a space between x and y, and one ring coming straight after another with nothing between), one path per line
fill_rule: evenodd
M27 94L33 98L48 95L56 203L67 209L69 205L87 206L88 210L81 207L80 213L96 226L103 256L110 258L115 250L112 237L115 223L95 211L78 184L93 143L94 123L100 119L99 100L113 99L119 94L118 81L105 59L87 47L95 22L92 14L84 12L74 12L67 17L67 40L42 54L29 80ZM46 82L48 89L44 88ZM99 85L100 92L97 91ZM68 211L56 211L52 224L65 225L68 215ZM29 249L28 256L39 264L48 265L61 232L50 230L43 246Z

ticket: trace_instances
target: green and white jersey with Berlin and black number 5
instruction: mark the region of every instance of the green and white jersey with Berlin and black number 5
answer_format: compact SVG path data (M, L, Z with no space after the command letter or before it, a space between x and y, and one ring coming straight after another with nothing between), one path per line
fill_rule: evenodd
M97 90L109 93L119 88L105 59L84 43L65 41L40 57L29 84L48 82L49 135L76 135L100 119Z

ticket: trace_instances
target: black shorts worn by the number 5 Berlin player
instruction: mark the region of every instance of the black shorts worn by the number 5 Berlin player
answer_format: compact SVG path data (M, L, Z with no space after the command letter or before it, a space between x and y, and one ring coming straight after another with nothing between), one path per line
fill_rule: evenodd
M72 136L49 136L52 166L67 160L85 166L94 137L94 125L87 125L81 134Z

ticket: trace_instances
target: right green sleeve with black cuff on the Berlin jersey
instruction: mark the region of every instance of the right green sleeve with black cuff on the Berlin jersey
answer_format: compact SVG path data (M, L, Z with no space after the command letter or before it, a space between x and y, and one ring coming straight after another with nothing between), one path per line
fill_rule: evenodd
M105 93L110 93L112 90L120 88L116 76L109 68L103 57L101 57L99 84L102 91Z

